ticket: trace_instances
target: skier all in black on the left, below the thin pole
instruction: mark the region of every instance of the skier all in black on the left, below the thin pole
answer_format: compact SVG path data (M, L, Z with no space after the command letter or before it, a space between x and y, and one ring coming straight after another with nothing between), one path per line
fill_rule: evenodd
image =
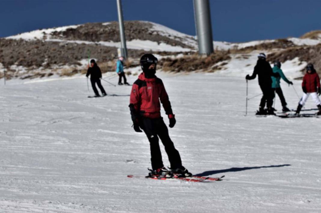
M96 61L94 59L91 59L90 64L91 64L91 67L89 67L88 65L86 77L88 78L88 76L90 75L90 82L91 82L92 89L95 92L95 97L100 97L99 92L95 85L96 83L102 93L102 96L106 96L107 93L105 92L105 89L102 87L100 82L100 78L101 78L100 68L96 64Z

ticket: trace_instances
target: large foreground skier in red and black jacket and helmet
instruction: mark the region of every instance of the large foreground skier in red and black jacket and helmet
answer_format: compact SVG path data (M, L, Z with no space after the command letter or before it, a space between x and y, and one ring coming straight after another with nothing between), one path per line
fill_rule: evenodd
M142 132L141 129L143 129L150 143L152 170L148 176L192 176L192 174L182 166L179 152L175 149L174 143L169 138L168 129L160 115L161 102L169 118L169 127L174 127L176 119L169 102L168 94L163 82L155 75L157 58L152 54L145 54L141 57L140 64L143 72L132 86L129 108L134 131ZM170 171L163 165L159 138L168 155Z

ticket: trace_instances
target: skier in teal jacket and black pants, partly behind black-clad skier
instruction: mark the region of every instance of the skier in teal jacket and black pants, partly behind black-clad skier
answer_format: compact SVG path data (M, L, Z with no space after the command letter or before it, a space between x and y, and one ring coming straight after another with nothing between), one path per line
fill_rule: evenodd
M282 92L282 89L281 89L281 86L280 86L280 80L282 78L288 84L292 85L293 83L292 83L292 81L289 81L285 77L284 73L281 70L281 63L279 61L275 61L274 62L274 67L273 67L272 70L273 70L274 73L279 73L278 77L271 76L271 78L272 78L272 89L273 89L274 92L276 92L278 94L278 96L279 96L279 98L281 100L282 111L283 112L289 112L290 109L288 107L286 107L287 103L286 103L285 98L283 96L283 92Z

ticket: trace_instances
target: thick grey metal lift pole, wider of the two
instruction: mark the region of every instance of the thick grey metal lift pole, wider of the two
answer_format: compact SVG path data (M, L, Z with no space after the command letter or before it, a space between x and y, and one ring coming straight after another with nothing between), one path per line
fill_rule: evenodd
M211 11L209 0L193 0L198 53L210 55L213 50Z

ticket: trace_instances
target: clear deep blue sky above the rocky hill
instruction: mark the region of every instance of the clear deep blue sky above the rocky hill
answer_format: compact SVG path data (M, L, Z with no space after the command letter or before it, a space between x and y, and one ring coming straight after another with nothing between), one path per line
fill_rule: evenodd
M193 0L122 0L124 20L195 35ZM244 42L321 30L321 0L210 0L213 39ZM0 0L0 37L40 28L117 21L116 0Z

